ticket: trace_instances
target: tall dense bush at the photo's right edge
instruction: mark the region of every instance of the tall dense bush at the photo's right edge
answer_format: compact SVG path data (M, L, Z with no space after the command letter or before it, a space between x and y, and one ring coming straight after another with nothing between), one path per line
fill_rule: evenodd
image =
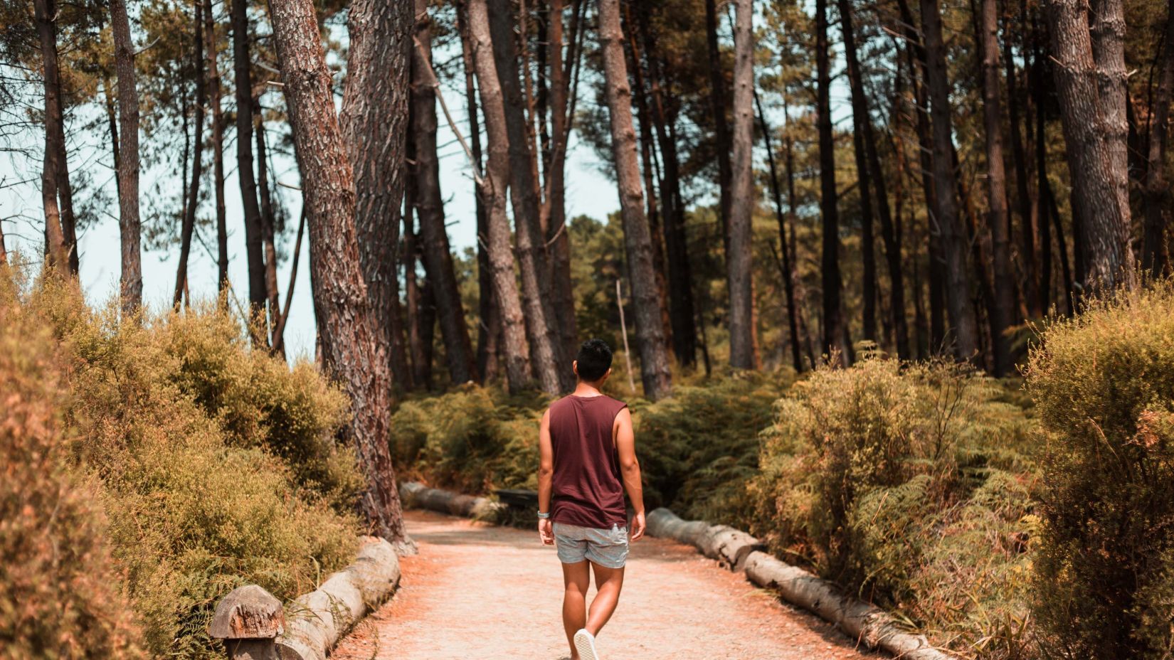
M1035 615L1060 658L1174 648L1174 285L1050 325L1027 388L1047 443Z

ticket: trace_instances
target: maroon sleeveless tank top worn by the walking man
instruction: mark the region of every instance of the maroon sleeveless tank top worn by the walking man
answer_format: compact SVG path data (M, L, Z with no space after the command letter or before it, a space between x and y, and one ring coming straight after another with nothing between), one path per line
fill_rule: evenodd
M554 477L551 519L608 530L628 524L620 456L612 429L628 404L608 396L569 395L551 404Z

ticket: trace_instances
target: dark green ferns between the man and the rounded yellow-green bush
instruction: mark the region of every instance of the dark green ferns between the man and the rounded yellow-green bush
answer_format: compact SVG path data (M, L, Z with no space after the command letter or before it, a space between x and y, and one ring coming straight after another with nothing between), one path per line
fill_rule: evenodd
M790 372L742 372L695 386L672 398L634 404L636 456L649 509L670 506L680 516L744 523L745 483L758 467L758 430L770 424L775 399Z

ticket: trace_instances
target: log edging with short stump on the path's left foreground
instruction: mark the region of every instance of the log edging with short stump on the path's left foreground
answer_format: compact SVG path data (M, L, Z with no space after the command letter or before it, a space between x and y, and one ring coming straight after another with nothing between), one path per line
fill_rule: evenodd
M350 566L285 607L257 585L232 590L217 604L208 634L224 641L230 660L325 660L398 585L396 550L384 539L363 537Z

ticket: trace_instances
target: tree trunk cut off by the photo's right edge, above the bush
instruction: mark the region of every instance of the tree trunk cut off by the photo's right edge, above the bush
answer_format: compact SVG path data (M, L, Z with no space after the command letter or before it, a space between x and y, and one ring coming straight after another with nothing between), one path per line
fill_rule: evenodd
M1158 95L1152 107L1149 144L1146 164L1145 207L1141 267L1155 274L1169 268L1166 204L1169 187L1166 183L1166 129L1169 122L1170 93L1174 88L1174 9L1168 9L1166 36L1162 40L1161 63L1158 74Z

